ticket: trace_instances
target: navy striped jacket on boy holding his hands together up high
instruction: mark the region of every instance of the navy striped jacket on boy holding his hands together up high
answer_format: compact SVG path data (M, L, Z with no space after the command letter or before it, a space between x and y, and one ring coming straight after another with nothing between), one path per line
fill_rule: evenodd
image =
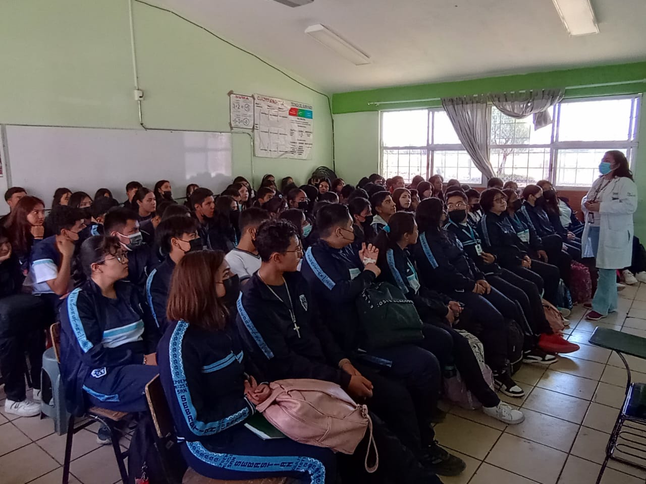
M355 303L375 274L363 270L359 252L351 245L333 248L324 240L307 249L301 274L337 344L345 352L356 350L362 335Z

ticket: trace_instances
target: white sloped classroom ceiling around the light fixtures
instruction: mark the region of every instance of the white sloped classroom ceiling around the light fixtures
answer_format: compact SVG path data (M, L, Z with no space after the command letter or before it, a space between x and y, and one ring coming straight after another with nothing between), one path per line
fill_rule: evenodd
M147 0L329 93L646 59L646 1L592 0L599 34L570 37L552 0ZM356 66L304 34L323 24Z

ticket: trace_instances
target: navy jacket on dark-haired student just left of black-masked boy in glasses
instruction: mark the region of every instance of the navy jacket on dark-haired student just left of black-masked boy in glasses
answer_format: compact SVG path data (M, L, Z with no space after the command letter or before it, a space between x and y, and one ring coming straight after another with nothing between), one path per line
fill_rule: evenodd
M462 243L446 230L419 234L413 259L422 285L440 292L471 291L475 281L485 277L466 255Z

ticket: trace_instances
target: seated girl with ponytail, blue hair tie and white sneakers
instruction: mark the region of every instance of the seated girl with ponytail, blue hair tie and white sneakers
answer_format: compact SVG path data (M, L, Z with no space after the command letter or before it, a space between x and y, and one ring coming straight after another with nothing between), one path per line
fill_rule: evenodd
M451 327L462 310L459 303L449 301L444 304L437 293L421 287L415 266L408 256L408 247L417 243L418 235L412 213L398 212L391 217L388 230L379 232L375 242L379 247L380 277L399 287L415 303L424 321L424 339L419 344L437 356L445 369L459 370L466 387L483 404L485 414L512 425L521 423L525 416L500 401L494 390L489 388L469 341ZM439 308L441 312L438 312Z

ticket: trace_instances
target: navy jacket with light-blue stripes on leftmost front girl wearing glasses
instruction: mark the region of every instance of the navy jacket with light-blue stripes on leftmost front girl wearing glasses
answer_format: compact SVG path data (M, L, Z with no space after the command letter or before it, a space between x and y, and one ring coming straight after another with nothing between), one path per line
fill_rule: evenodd
M143 364L157 347L158 331L141 292L125 281L114 288L117 298L109 299L89 279L59 308L61 376L68 410L77 415L85 410L83 385L90 373Z

